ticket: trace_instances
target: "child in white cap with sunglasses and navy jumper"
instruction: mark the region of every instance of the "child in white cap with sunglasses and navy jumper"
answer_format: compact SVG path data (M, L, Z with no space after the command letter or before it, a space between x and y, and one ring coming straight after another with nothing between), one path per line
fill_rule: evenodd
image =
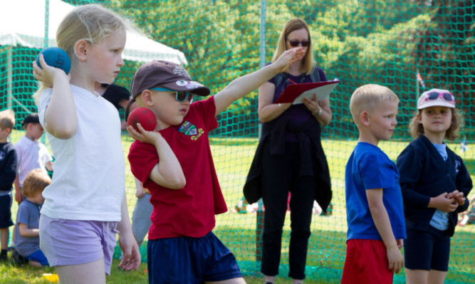
M454 96L428 90L417 100L409 128L414 141L397 157L407 239L407 283L444 283L449 268L450 237L457 214L465 211L472 182L461 157L444 139L454 140L461 126Z

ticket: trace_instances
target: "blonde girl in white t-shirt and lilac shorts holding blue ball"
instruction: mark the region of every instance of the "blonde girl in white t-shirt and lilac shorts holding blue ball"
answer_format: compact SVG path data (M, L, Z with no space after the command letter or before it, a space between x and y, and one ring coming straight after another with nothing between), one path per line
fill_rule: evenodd
M105 283L115 233L123 253L119 266L140 265L125 199L120 118L94 89L95 82L110 84L118 76L129 26L102 6L78 6L56 35L71 57L71 80L43 56L43 69L33 62L35 78L52 86L40 88L35 98L56 158L53 180L43 191L40 247L61 283Z

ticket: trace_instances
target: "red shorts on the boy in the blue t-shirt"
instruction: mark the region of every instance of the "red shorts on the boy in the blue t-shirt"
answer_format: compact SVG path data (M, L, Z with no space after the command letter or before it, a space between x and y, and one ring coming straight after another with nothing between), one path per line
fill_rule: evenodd
M377 240L351 239L346 246L342 284L392 283L394 273L387 269L385 243Z

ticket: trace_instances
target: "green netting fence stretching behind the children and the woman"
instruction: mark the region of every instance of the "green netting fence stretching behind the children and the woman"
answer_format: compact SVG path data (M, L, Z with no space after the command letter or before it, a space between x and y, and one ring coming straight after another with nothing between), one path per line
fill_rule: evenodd
M15 0L16 1L16 0ZM53 6L60 0L34 0L48 6L48 12L36 11L44 25L53 23ZM14 2L14 1L11 1ZM473 129L475 122L475 4L473 0L338 0L338 1L264 1L264 0L110 0L66 1L71 5L103 3L130 16L144 34L153 41L182 52L185 68L192 78L212 89L224 88L234 78L257 70L271 61L283 24L294 17L310 25L313 53L317 64L328 78L339 78L340 84L330 95L333 120L323 130L323 147L330 164L333 186L333 211L330 216L315 214L308 246L306 274L321 283L339 283L345 261L346 216L344 198L345 164L356 144L357 128L349 112L353 91L366 83L386 85L400 96L397 131L390 142L380 146L391 159L411 141L409 120L421 85L451 90L456 105L464 113L465 128L459 140L449 143L464 159L470 173L475 174ZM6 1L0 4L6 5ZM3 9L3 8L2 8ZM28 6L8 11L28 20ZM37 25L31 22L31 26ZM43 25L43 23L41 23ZM43 26L44 28L44 26ZM0 31L5 28L0 27ZM48 35L54 38L53 35ZM0 109L16 112L16 131L11 140L19 140L21 121L28 112L36 111L31 99L36 90L31 61L37 53L54 42L45 40L46 33L34 44L21 33L15 40L1 34L0 41ZM163 58L160 52L132 51L126 61L118 85L128 87L136 68L152 59ZM137 56L133 56L133 55ZM123 115L123 112L121 113ZM257 92L235 102L218 117L219 128L212 132L212 151L219 181L230 210L216 216L216 233L234 252L244 275L260 269L260 236L265 211L257 206L244 206L235 213L242 197L242 186L259 138ZM124 152L131 138L123 133ZM48 141L45 140L48 145ZM466 147L465 147L466 145ZM135 205L135 183L127 164L127 200L130 214ZM471 194L473 196L474 194ZM470 197L471 197L470 196ZM257 207L257 212L254 211ZM238 208L240 209L240 208ZM16 205L13 208L16 212ZM283 233L281 276L288 274L289 219ZM446 283L474 283L475 225L458 226L451 238L451 259ZM145 256L145 255L144 255ZM145 256L146 258L146 256ZM404 273L395 276L404 283Z

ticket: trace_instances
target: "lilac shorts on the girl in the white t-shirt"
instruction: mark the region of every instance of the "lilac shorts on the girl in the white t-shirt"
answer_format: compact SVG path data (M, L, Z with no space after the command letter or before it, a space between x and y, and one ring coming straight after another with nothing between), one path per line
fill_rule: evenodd
M115 225L110 221L79 221L40 216L40 248L51 266L77 265L104 258L105 273L116 245Z

